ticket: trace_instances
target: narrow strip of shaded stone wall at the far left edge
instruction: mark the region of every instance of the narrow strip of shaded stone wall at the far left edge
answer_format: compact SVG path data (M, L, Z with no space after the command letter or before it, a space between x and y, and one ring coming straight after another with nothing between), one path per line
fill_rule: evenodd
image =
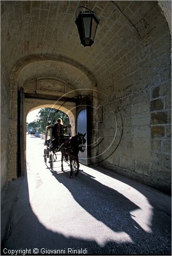
M1 190L8 180L8 152L10 134L10 79L1 56Z

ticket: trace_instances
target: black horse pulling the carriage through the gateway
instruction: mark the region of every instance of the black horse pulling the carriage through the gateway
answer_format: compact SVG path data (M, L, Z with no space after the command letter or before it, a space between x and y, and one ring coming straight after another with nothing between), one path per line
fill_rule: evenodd
M86 134L86 133L85 133ZM79 172L79 160L78 160L78 153L79 151L84 152L85 150L85 142L86 140L84 139L85 134L78 133L76 136L73 136L65 147L61 148L61 170L63 172L63 158L65 157L66 159L69 156L70 160L70 178L72 178L73 174L73 167L72 167L72 161L75 160L77 164L77 172L75 175L78 175Z

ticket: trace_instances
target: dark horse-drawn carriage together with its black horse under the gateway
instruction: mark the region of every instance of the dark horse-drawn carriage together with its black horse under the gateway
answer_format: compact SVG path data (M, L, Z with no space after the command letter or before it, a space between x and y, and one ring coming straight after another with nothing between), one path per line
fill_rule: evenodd
M71 137L71 124L63 125L62 129L63 137L57 139L54 136L54 126L49 125L46 127L44 161L47 164L47 159L49 158L50 169L53 170L53 162L57 160L56 153L61 152L61 170L63 171L63 160L69 161L71 168L70 176L72 177L73 167L77 167L76 175L78 174L78 153L79 151L84 151L85 134L78 133L76 136Z

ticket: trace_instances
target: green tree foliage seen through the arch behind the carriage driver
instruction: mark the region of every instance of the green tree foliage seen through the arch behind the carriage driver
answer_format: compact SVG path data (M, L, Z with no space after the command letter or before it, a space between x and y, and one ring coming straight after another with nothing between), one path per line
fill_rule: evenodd
M58 118L62 119L63 124L70 123L68 115L57 109L41 108L38 114L36 125L39 129L39 133L45 134L46 126L56 123Z

